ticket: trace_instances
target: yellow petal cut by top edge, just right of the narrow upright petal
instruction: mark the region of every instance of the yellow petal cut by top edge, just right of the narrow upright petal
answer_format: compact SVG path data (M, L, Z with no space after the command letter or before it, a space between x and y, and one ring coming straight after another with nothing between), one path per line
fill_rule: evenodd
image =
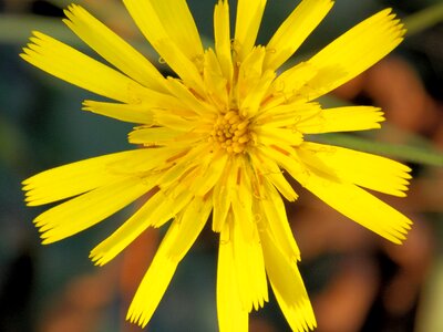
M234 51L243 61L253 50L265 11L266 0L239 0L237 3Z

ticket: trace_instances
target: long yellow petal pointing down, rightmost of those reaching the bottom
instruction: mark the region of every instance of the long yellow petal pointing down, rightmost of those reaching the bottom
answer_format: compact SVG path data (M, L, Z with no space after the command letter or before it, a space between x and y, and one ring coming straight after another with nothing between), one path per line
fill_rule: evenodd
M284 255L266 228L260 239L269 282L291 330L313 330L317 322L297 263Z

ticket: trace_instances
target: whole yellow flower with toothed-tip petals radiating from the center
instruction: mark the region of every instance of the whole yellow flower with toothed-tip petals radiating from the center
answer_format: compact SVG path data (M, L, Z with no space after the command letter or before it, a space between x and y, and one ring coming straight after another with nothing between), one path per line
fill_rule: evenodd
M115 102L84 110L138 124L143 148L43 172L23 181L27 201L68 201L34 220L43 243L78 234L151 193L91 251L102 266L147 227L171 220L127 319L144 326L209 216L219 232L220 331L247 331L248 313L268 301L267 278L292 330L316 326L298 271L300 252L284 205L297 199L291 176L326 204L400 243L411 221L364 188L405 196L410 169L384 157L308 142L306 134L379 128L372 106L322 108L316 98L391 52L404 29L390 10L356 25L307 61L278 73L331 9L303 0L266 45L255 45L265 0L239 0L234 35L228 1L214 11L215 46L204 49L185 0L124 0L135 23L178 75L164 77L124 40L79 6L66 25L111 65L34 32L21 56L41 70ZM282 196L282 197L281 197Z

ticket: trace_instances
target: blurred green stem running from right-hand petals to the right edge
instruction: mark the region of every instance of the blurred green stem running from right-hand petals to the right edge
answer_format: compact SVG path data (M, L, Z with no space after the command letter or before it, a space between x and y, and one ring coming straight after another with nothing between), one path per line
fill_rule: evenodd
M432 146L422 147L412 145L396 145L347 134L318 135L315 137L315 141L377 155L384 155L403 162L411 162L427 166L443 166L443 153L434 149Z

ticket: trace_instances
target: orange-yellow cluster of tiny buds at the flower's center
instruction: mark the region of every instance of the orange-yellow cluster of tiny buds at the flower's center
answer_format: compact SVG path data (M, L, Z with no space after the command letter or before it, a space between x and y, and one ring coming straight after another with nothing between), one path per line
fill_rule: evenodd
M250 141L248 126L249 121L238 111L229 111L218 116L209 139L229 154L243 153Z

